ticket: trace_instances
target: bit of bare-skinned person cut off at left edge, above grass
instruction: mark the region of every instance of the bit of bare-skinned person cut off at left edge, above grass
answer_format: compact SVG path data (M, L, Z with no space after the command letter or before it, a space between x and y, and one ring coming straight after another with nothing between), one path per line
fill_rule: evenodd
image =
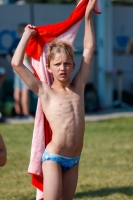
M0 167L3 167L7 161L7 151L2 135L0 134Z

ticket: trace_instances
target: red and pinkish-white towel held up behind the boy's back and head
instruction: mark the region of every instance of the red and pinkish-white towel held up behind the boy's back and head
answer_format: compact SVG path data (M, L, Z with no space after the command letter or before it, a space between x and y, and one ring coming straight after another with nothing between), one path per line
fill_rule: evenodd
M50 25L38 26L38 34L31 38L26 53L32 59L32 66L36 77L51 85L53 76L46 69L46 50L48 43L54 39L61 39L73 44L82 18L84 17L88 0L81 0L73 10L68 19ZM97 0L94 12L101 13L100 0ZM43 174L41 158L45 147L50 142L52 131L42 110L40 99L38 98L35 124L31 146L31 157L28 173L32 175L32 184L37 188L36 200L43 200Z

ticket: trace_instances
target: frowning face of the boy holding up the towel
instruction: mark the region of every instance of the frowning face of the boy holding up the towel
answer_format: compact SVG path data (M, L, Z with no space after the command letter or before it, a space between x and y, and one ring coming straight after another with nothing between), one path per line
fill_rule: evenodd
M54 79L65 82L70 79L70 75L75 68L75 63L66 54L57 53L47 68L53 74Z

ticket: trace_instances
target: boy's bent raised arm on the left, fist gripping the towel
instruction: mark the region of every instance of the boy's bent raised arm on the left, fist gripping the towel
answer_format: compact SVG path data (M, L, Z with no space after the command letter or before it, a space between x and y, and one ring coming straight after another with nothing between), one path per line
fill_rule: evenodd
M38 79L34 76L34 74L29 69L27 69L25 65L23 64L26 45L29 39L31 38L31 36L34 36L35 34L37 34L35 30L35 26L27 25L25 27L23 36L16 48L11 64L12 64L13 69L22 78L22 80L26 83L26 85L35 94L38 95L39 86L41 85L41 82L38 81Z

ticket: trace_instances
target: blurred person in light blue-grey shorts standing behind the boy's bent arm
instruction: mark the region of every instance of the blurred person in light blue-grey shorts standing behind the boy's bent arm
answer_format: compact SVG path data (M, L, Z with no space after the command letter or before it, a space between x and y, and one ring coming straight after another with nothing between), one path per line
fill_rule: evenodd
M19 37L14 40L11 48L9 49L9 54L11 58L16 50L16 47L18 46L18 43L21 39L21 36L24 32L24 28L26 25L27 25L26 23L20 23L18 25ZM30 58L27 54L24 55L24 64L31 72L33 72L31 68ZM29 88L14 70L13 72L14 72L13 97L14 97L15 118L29 119L31 118L29 113Z

